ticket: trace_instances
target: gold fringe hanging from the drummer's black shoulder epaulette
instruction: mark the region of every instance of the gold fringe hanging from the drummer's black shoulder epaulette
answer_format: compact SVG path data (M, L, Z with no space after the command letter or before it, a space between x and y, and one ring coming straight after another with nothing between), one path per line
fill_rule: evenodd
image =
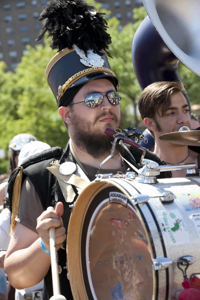
M18 216L18 206L21 192L21 182L22 182L22 166L18 166L17 169L20 169L18 174L16 175L16 179L14 181L13 190L12 190L12 214L11 214L11 228L10 234L14 230L16 221L15 217Z

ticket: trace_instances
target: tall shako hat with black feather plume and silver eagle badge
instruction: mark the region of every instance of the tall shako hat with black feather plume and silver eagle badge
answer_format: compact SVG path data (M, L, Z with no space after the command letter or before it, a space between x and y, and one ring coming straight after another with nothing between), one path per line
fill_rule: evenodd
M37 40L48 32L50 47L58 50L45 71L58 106L67 106L88 81L107 77L115 87L118 84L107 60L111 38L103 14L84 0L50 0L43 7Z

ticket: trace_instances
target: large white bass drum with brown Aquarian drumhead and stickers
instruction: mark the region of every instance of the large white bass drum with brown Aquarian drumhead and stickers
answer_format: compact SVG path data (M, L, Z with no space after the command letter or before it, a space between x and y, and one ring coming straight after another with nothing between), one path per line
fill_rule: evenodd
M169 191L172 198L165 196ZM146 202L133 203L141 198ZM187 277L200 272L199 208L200 184L194 179L91 182L77 198L68 226L74 300L176 298L183 281L177 260L193 256ZM160 257L169 263L157 263Z

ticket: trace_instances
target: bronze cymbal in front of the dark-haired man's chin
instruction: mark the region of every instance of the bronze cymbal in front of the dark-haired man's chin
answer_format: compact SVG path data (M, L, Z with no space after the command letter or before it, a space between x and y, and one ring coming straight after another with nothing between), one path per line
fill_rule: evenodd
M163 141L182 146L200 146L200 130L175 131L160 135Z

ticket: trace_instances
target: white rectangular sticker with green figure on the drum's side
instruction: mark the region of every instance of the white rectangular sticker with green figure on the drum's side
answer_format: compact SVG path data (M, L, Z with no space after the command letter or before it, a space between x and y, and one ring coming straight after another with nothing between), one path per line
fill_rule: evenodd
M161 229L169 244L189 241L189 233L178 209L157 211Z

